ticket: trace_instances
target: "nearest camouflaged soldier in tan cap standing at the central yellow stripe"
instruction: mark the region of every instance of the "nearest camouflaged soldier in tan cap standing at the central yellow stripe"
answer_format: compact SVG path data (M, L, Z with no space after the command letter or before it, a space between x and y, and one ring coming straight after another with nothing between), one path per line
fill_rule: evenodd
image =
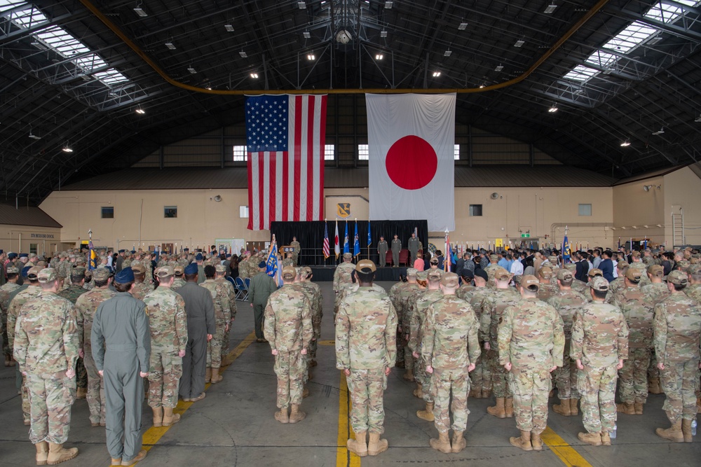
M358 456L376 456L388 448L380 435L387 375L396 359L397 314L390 298L372 288L375 271L372 261L358 261L358 291L343 298L336 316L336 368L346 375L353 403L355 440L346 446Z

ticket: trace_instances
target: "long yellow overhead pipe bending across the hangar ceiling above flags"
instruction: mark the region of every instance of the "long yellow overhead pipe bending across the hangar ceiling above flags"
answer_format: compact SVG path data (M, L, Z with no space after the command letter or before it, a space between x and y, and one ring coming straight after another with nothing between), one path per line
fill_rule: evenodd
M524 71L523 74L517 76L516 78L512 78L508 81L504 81L503 83L496 83L493 85L489 86L484 86L484 88L431 88L431 89L313 89L313 90L219 90L219 89L207 89L207 88L199 88L198 86L192 86L189 84L185 83L180 83L179 81L176 81L175 79L171 78L168 76L168 74L161 69L161 67L158 67L158 64L154 62L154 60L151 60L151 58L144 53L139 46L137 46L131 39L129 39L126 34L124 34L121 29L116 27L113 22L107 18L107 16L103 15L100 10L97 9L92 3L90 3L89 0L80 0L81 4L88 8L88 10L97 17L100 21L104 23L105 26L107 26L116 36L118 36L119 39L121 39L130 49L132 49L139 57L146 62L149 67L154 69L156 73L161 75L161 77L168 83L177 86L177 88L182 88L184 90L189 90L189 91L194 91L194 92L202 92L203 94L212 94L212 95L261 95L261 94L409 94L409 93L417 93L417 94L444 94L446 92L456 92L458 94L466 94L466 93L473 93L473 92L487 92L487 91L493 91L501 88L508 88L509 86L515 85L517 83L520 83L521 81L524 81L524 79L528 78L533 74L533 71L536 71L540 65L545 62L550 56L555 53L560 47L562 47L562 44L564 44L571 36L573 36L576 32L579 31L583 25L587 21L589 21L594 15L596 15L601 8L604 8L606 4L608 4L608 0L599 0L597 1L597 4L594 5L585 15L580 18L565 34L562 36L560 39L557 40L554 45L547 50L536 62L531 65L529 69Z

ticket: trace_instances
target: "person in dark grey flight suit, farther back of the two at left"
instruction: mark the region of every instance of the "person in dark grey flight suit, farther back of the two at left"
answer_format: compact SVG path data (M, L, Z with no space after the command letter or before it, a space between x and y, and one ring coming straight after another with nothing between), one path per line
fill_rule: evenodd
M198 264L191 263L184 272L186 284L177 293L185 300L187 345L178 392L185 402L196 402L205 398L207 342L215 334L215 303L210 291L197 284Z

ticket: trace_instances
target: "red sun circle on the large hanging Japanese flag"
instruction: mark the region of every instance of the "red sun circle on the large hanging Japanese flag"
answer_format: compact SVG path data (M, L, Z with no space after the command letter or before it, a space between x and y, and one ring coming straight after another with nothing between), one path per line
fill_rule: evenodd
M390 179L404 190L418 190L433 180L438 157L426 139L410 134L397 139L387 151L385 167Z

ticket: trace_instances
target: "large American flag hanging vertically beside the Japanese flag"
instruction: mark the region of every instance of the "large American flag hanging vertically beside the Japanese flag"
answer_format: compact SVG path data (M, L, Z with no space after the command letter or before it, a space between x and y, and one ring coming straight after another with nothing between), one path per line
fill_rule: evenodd
M326 95L246 98L249 230L324 217Z

